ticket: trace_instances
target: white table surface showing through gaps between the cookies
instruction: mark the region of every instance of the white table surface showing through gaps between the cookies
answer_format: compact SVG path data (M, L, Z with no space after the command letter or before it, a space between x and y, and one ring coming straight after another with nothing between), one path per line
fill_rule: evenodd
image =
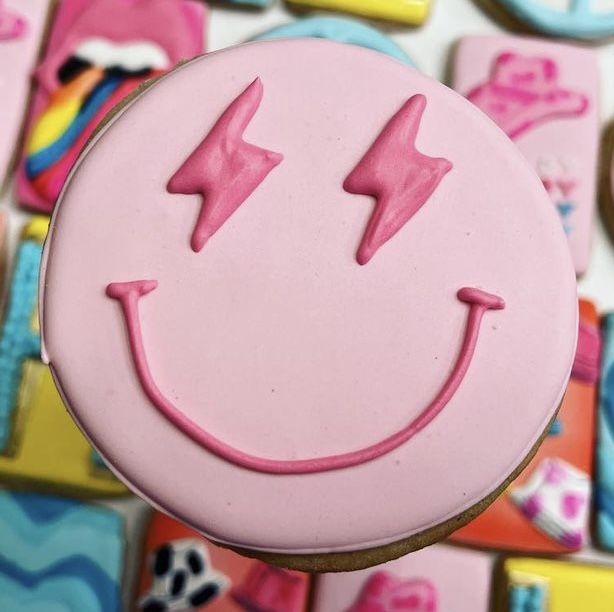
M614 0L612 2L614 8ZM279 0L281 2L281 0ZM220 49L242 42L274 26L287 23L296 17L283 4L263 11L225 9L214 7L210 11L207 27L208 50ZM496 34L502 28L472 0L434 0L428 22L421 28L410 29L386 26L389 35L407 51L424 73L443 80L450 54L456 41L471 34ZM601 116L604 125L614 119L614 42L597 47L601 68ZM28 215L15 206L11 186L0 195L0 209L9 211L10 253L22 223ZM593 251L588 272L579 280L579 293L595 302L601 312L614 311L614 244L607 236L601 219L593 228ZM126 576L126 601L131 597L134 585L133 560L139 555L139 539L143 516L147 512L144 502L137 499L109 503L118 508L127 519L128 557ZM601 560L614 565L614 556L588 550L582 558ZM128 606L127 606L128 609Z

